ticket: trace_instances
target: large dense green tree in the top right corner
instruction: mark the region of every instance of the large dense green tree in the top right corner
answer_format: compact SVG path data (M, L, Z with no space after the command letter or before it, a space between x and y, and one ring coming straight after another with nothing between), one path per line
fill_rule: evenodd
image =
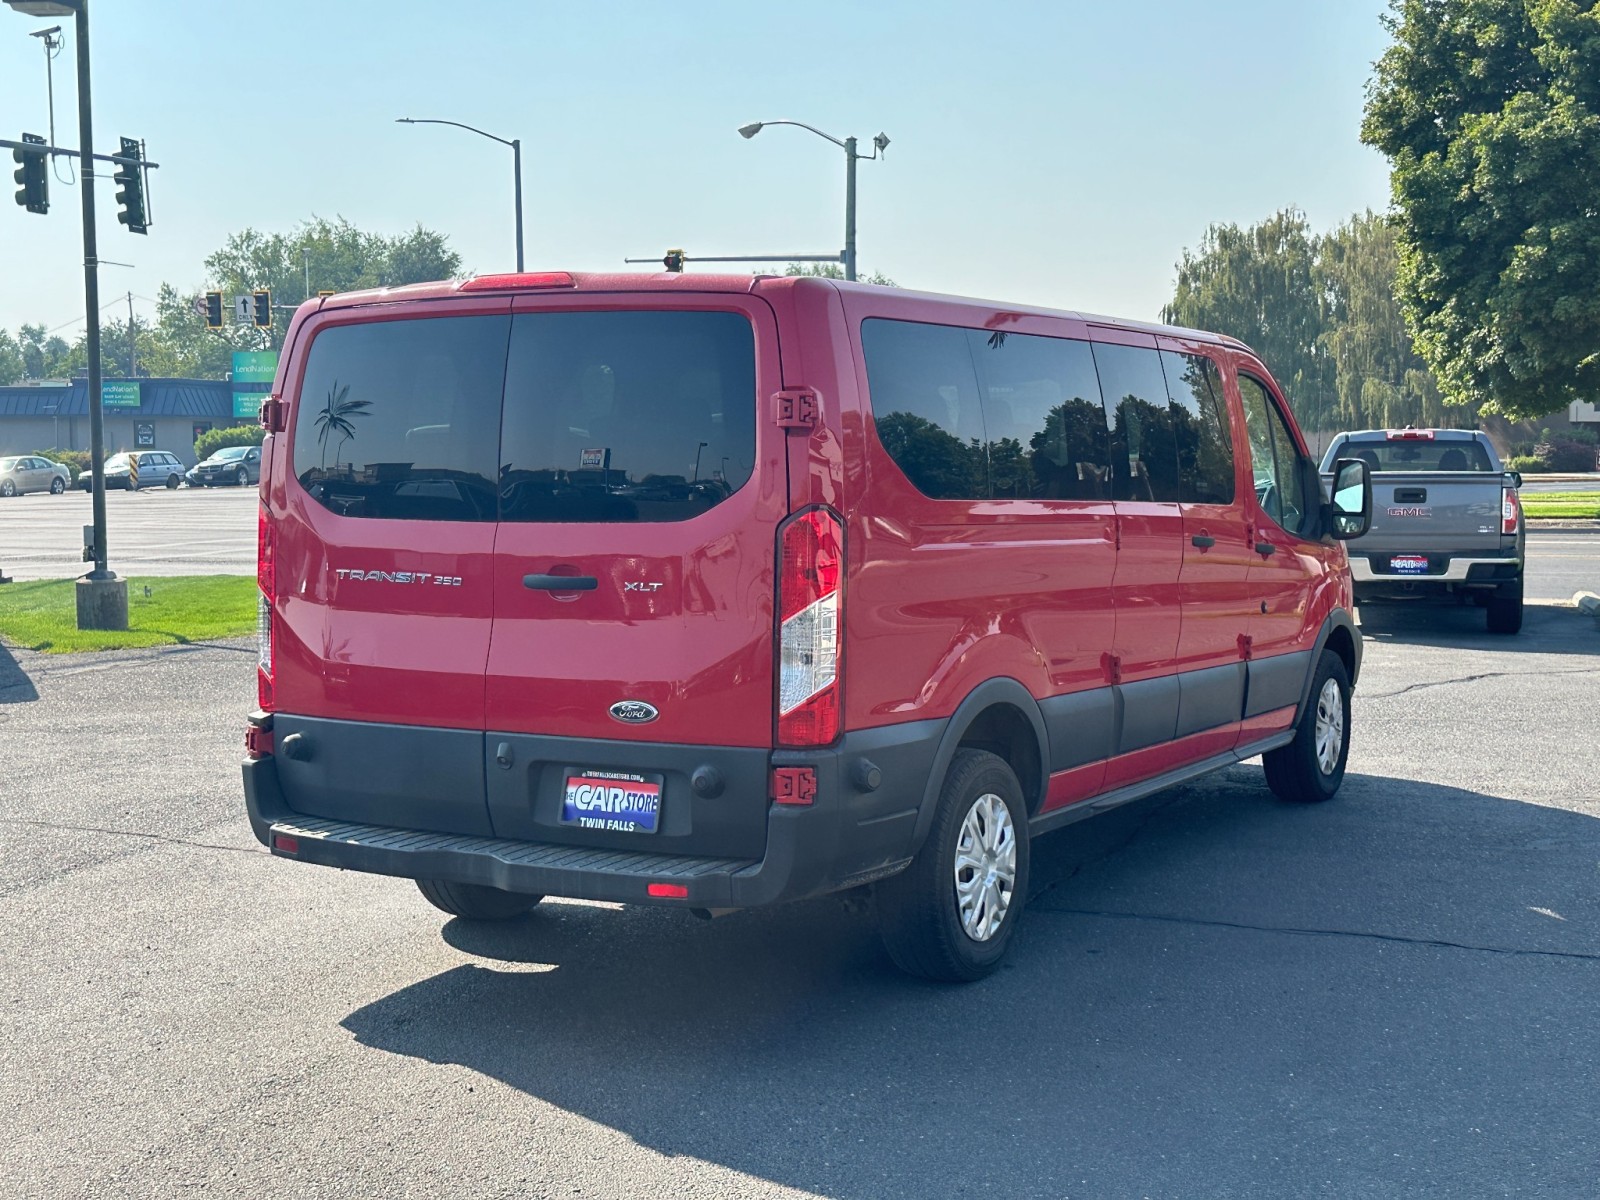
M1392 0L1362 141L1389 157L1398 293L1458 403L1600 394L1600 6Z

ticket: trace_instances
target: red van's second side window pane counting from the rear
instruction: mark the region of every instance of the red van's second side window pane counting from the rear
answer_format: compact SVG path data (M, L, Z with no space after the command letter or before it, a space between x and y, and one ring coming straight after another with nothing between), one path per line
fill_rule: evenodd
M997 498L1110 499L1110 430L1088 342L968 330Z

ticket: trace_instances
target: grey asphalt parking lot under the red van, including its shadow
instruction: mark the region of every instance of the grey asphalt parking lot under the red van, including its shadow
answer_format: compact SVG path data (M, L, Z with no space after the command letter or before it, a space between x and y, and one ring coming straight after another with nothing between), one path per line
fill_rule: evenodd
M1339 798L1038 842L971 987L835 901L477 928L272 859L248 646L0 651L3 1190L1592 1195L1600 632L1363 621Z

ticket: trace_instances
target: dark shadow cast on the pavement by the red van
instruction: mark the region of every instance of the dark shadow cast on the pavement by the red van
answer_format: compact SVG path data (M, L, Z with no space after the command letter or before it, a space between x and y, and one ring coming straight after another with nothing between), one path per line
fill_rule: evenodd
M344 1026L832 1197L1586 1195L1597 862L1589 816L1371 776L1298 808L1246 765L1035 843L982 984L834 901L546 902Z

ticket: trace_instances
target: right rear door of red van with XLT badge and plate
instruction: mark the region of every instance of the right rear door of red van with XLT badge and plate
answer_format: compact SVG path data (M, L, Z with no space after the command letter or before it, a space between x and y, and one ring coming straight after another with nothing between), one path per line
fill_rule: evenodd
M517 302L486 675L496 834L763 853L787 472L762 398L779 387L755 298ZM722 778L696 787L702 762ZM579 819L581 779L656 797L656 819Z

